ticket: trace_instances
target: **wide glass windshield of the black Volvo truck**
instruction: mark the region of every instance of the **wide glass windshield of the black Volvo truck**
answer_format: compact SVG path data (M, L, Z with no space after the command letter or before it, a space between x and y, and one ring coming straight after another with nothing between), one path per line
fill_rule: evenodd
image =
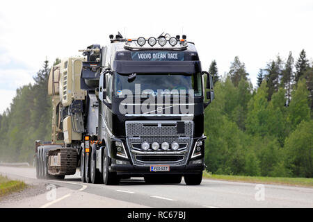
M195 96L202 96L201 75L197 74L136 74L136 76L129 80L129 75L118 74L114 75L114 94L119 96L122 89L129 89L132 94L138 94L138 89L135 91L135 84L140 85L140 92L142 94L157 94L158 90L163 92L181 93L180 90L189 89L194 90Z

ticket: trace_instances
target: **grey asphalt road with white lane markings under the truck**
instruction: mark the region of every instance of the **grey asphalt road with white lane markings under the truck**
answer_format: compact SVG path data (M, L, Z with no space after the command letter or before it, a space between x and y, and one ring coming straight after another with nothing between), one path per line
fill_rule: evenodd
M0 174L33 188L0 199L2 207L313 207L313 189L202 180L200 186L146 185L143 178L118 186L86 184L79 171L65 180L38 180L35 169L0 167ZM54 189L55 188L55 189Z

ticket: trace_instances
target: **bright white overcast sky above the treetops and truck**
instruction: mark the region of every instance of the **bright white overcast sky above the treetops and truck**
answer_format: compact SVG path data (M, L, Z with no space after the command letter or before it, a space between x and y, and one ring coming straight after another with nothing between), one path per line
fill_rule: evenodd
M313 57L313 1L1 1L0 112L15 90L33 83L46 56L80 55L90 44L126 37L187 35L202 69L216 60L220 75L235 56L246 64L253 85L260 68L278 54Z

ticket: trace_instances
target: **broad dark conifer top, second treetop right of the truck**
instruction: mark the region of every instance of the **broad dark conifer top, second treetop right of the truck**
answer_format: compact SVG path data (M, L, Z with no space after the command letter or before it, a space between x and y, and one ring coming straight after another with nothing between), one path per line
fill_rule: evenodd
M241 79L247 80L249 74L246 72L245 64L239 60L238 56L234 58L234 62L230 65L229 75L235 87L238 86Z

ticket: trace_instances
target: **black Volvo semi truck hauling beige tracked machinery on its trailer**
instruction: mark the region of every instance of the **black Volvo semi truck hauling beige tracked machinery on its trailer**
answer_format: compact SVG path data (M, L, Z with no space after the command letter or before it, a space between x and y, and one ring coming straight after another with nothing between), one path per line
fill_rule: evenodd
M51 68L52 140L35 143L38 178L64 178L80 168L83 182L122 178L200 185L204 108L214 99L186 36L126 39L110 35L83 58Z

